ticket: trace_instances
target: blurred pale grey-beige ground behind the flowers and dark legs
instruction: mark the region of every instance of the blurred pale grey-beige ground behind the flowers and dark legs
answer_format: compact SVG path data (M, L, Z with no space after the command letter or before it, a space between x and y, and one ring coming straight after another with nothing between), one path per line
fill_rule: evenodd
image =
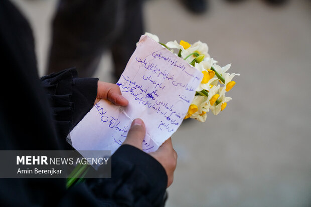
M44 75L57 1L13 2L31 23ZM173 135L179 157L166 206L311 206L311 1L206 3L142 7L144 31L163 43L205 42L219 65L241 74L222 113ZM105 51L93 76L115 82L112 70Z

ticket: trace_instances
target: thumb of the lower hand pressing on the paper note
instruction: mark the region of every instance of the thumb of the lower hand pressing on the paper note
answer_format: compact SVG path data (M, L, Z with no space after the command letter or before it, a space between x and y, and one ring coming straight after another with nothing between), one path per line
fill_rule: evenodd
M145 125L141 119L133 120L130 129L127 133L127 137L122 144L132 145L142 150L142 140L146 133Z

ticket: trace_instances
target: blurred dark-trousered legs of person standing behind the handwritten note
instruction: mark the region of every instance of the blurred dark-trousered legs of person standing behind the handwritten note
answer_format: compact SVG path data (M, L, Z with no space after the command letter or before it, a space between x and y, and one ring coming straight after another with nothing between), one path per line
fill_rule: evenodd
M60 0L53 20L47 74L76 67L91 77L111 50L116 80L143 34L143 0Z

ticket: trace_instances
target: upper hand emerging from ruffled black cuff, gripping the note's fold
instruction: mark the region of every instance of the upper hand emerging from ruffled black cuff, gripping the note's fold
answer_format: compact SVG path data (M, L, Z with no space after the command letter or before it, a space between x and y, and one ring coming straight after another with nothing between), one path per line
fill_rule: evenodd
M96 104L100 99L107 99L117 106L127 106L128 101L122 96L120 88L113 83L98 81Z

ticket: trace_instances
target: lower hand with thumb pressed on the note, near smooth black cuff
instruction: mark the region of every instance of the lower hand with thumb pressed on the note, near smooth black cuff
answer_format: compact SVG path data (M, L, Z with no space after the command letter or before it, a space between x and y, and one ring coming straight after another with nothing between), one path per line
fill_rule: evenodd
M142 140L145 136L146 129L141 119L135 119L128 131L127 137L123 144L132 145L142 150ZM164 167L168 175L168 187L173 183L174 171L177 164L177 153L173 149L171 137L166 140L157 151L149 153L153 158L158 160Z

